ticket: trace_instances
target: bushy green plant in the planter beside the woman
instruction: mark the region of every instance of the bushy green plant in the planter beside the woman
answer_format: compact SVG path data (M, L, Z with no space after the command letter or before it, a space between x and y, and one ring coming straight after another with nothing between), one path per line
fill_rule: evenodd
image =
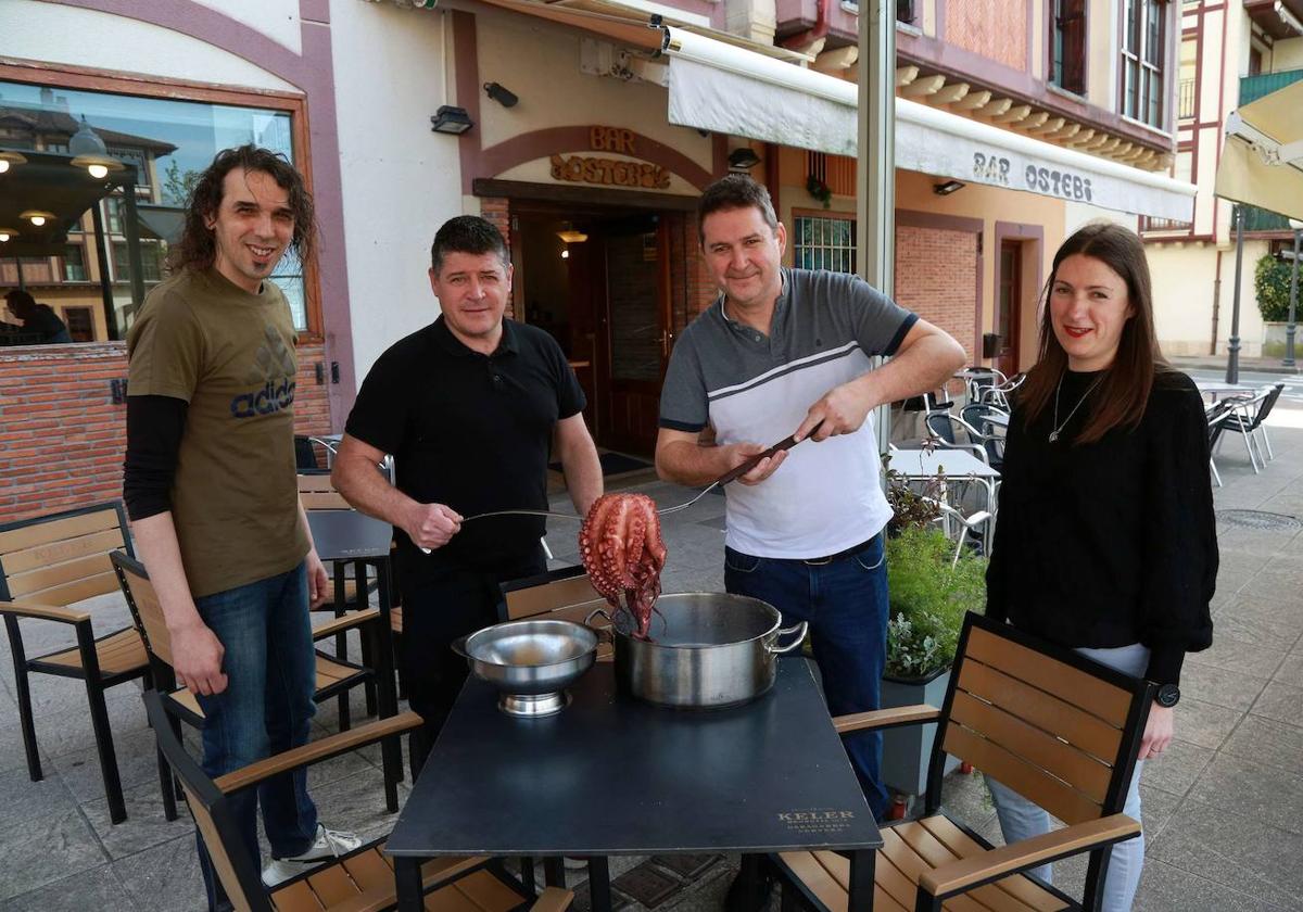
M986 602L986 559L963 555L934 528L904 528L887 538L887 666L895 677L926 677L955 659L967 611Z

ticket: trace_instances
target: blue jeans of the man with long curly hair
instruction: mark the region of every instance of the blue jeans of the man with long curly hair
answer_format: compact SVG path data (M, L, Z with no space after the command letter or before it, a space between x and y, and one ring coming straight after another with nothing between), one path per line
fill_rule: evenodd
M194 601L225 653L222 671L227 689L199 696L203 709L203 771L231 773L308 743L317 711L317 657L308 619L305 564L278 576ZM306 852L317 835L317 808L308 797L308 773L296 770L267 779L257 790L229 795L245 848L261 868L257 812L275 857ZM225 896L216 882L202 839L199 864L208 907Z

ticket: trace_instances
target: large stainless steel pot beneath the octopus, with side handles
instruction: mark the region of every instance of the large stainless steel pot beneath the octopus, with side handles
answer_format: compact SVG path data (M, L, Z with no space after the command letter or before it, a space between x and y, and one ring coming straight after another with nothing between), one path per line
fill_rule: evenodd
M734 706L774 685L775 657L796 649L805 624L780 629L778 610L727 593L662 595L649 640L614 627L615 679L633 696L662 706ZM601 608L589 615L606 612ZM795 634L786 646L779 636Z

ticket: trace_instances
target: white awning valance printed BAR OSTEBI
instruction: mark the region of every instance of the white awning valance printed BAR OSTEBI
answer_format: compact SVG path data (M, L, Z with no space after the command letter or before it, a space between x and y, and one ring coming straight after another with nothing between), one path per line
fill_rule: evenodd
M859 87L667 27L670 122L856 154ZM896 167L1188 221L1194 184L896 98Z

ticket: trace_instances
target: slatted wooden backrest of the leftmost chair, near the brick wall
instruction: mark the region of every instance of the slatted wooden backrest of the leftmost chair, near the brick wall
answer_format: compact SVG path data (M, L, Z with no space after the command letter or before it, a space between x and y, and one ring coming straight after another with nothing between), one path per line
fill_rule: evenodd
M132 550L121 500L0 524L0 601L66 606L111 593L115 549Z

